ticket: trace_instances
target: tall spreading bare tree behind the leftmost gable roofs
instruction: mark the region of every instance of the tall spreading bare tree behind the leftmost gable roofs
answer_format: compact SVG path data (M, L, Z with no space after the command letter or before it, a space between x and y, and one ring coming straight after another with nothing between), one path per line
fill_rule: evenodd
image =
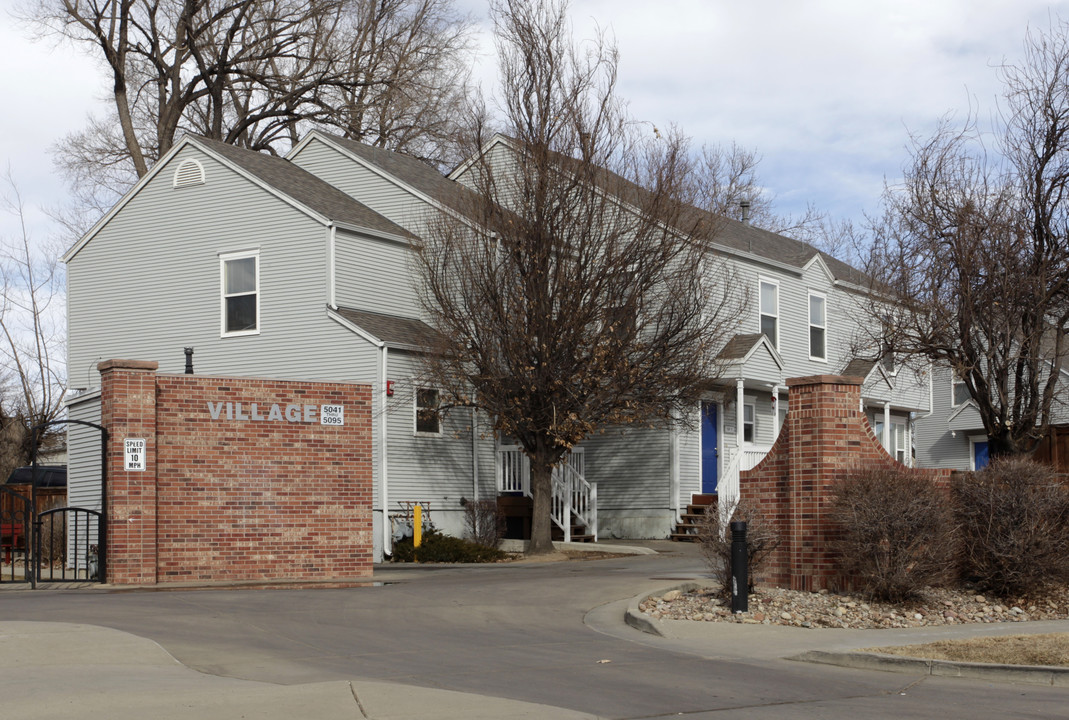
M451 0L33 1L28 17L89 45L110 73L113 115L58 147L93 206L182 132L278 152L315 124L456 159L469 24Z

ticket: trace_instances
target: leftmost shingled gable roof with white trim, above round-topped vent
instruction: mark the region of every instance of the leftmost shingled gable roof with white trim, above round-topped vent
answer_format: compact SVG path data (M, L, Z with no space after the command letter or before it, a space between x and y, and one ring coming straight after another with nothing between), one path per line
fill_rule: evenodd
M207 155L324 225L335 223L375 235L406 239L414 237L401 225L378 215L367 205L288 160L187 135L179 140L164 157L159 158L152 169L81 239L63 254L61 260L64 263L71 262L97 233L107 226L115 215L137 197L143 187L164 171L175 155L187 147L193 147Z

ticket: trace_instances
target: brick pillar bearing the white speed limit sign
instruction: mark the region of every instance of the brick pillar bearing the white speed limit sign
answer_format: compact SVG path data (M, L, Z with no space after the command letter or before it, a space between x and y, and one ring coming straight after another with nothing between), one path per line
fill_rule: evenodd
M106 360L100 372L100 424L108 428L107 581L155 584L156 369L159 363ZM145 441L144 470L125 469L125 440Z

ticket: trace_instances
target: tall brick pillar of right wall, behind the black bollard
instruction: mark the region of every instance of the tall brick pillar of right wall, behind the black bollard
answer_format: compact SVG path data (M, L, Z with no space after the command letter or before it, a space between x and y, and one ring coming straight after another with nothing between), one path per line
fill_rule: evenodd
M816 375L787 380L790 411L788 470L792 590L812 591L836 583L826 514L828 488L862 450L863 378Z

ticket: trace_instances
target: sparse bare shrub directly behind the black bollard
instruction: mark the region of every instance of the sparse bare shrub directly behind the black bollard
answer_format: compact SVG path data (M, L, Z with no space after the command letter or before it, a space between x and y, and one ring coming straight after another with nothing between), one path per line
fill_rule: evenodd
M783 537L776 528L768 521L756 503L740 500L734 512L728 519L727 528L732 520L746 522L746 562L748 569L747 592L754 592L754 581L758 572L764 566L775 551ZM721 594L725 600L731 598L731 533L722 531L721 514L707 513L698 523L698 536L701 538L701 555L709 565L713 577L721 583Z

